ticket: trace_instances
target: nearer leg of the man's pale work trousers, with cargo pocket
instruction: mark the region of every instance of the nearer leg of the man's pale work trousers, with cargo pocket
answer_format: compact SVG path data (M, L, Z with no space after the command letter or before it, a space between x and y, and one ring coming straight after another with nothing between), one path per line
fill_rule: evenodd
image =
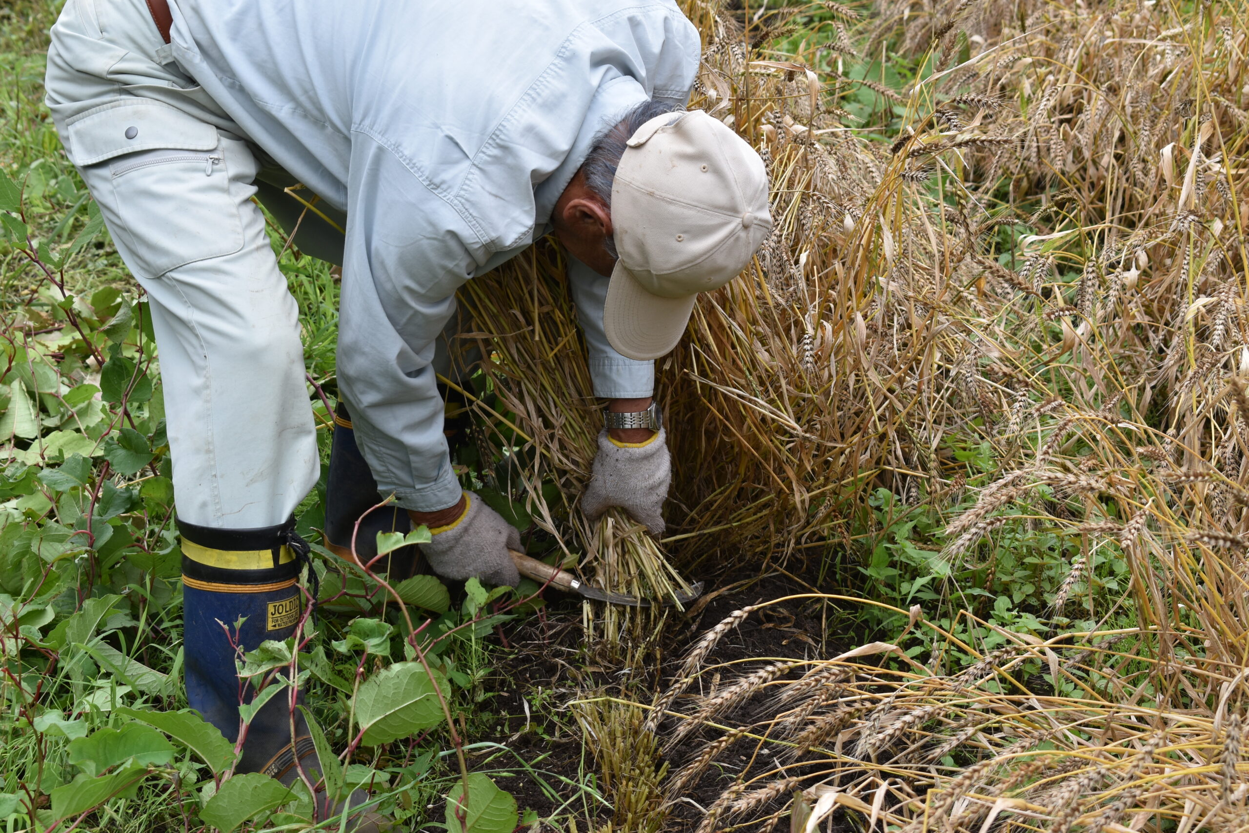
M69 0L47 101L147 292L179 517L286 521L318 457L299 310L251 202L252 149L167 61L142 0Z

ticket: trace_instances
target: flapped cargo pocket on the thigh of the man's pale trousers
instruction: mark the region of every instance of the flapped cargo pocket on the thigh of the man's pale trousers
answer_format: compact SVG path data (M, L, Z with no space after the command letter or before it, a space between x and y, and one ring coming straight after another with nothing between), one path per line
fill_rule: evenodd
M240 201L216 127L145 99L66 125L126 265L154 278L242 249ZM240 142L234 142L240 144ZM250 189L235 191L245 200Z

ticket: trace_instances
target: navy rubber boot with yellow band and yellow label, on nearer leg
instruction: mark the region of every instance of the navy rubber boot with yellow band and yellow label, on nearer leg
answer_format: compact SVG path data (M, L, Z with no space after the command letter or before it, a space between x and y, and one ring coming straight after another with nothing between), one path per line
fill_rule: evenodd
M237 651L255 651L265 639L282 641L295 633L304 613L297 579L307 563L307 543L295 535L295 518L259 530L216 530L184 521L177 527L182 535L186 698L226 739L237 743L239 704L255 694L252 683L237 676ZM245 621L236 628L240 618ZM302 692L297 702L304 702ZM247 726L235 772L262 772L291 786L300 768L311 776L321 766L304 713L291 714L284 692ZM357 789L348 803L366 801L367 793ZM318 792L317 811L325 819L341 814L342 806ZM382 817L368 812L352 824L347 831L355 833L387 829Z

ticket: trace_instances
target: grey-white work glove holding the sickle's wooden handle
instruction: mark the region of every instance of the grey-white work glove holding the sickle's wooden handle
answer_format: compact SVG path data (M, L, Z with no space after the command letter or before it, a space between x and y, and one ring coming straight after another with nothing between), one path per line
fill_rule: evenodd
M430 530L432 540L421 545L433 572L443 578L476 576L491 584L516 587L521 581L507 553L521 548L521 532L472 492L465 492L468 507L445 527Z

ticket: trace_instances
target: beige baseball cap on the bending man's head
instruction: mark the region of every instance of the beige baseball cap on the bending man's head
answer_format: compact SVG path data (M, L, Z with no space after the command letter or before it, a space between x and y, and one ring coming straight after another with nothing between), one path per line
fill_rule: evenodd
M763 160L702 110L656 116L616 169L612 229L607 340L658 358L681 341L694 296L733 280L772 231Z

